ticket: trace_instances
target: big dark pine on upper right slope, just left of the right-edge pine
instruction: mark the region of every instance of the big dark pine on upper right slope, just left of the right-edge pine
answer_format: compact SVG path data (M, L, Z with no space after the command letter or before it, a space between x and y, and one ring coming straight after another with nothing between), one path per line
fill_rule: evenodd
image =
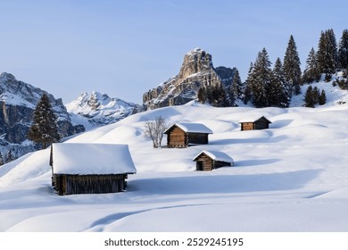
M333 29L321 31L318 46L319 72L325 74L325 79L331 79L335 73L338 62L336 37Z

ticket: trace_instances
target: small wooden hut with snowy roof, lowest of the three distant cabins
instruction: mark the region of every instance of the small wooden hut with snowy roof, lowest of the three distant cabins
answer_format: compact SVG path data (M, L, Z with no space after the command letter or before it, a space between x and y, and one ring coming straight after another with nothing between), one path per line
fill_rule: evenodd
M203 150L193 160L196 171L212 171L220 167L232 166L233 159L228 154L216 151Z

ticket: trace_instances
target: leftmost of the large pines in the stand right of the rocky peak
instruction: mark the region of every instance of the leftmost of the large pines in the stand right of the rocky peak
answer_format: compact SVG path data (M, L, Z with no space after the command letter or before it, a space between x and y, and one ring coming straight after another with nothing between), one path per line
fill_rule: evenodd
M252 81L250 82L252 101L255 107L266 107L269 105L268 93L272 75L270 65L269 54L266 48L263 48L253 64Z

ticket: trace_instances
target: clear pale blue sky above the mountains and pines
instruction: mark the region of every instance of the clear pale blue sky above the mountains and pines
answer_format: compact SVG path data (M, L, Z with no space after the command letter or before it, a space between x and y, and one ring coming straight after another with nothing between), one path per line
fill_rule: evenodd
M283 59L292 34L303 69L321 30L338 41L348 29L348 2L336 0L0 0L0 10L0 72L64 103L97 90L141 104L195 47L244 80L263 47Z

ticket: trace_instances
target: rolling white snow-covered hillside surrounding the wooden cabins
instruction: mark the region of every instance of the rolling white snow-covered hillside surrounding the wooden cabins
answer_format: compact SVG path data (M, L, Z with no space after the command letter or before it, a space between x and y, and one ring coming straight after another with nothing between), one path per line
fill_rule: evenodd
M326 91L327 104L315 109L193 102L65 142L128 144L137 174L124 193L57 196L49 149L27 154L0 167L0 231L347 231L348 104L335 104L342 92ZM255 114L270 129L240 131L237 121ZM157 115L203 123L210 144L153 149L142 130ZM195 171L192 159L204 149L228 154L235 166Z

